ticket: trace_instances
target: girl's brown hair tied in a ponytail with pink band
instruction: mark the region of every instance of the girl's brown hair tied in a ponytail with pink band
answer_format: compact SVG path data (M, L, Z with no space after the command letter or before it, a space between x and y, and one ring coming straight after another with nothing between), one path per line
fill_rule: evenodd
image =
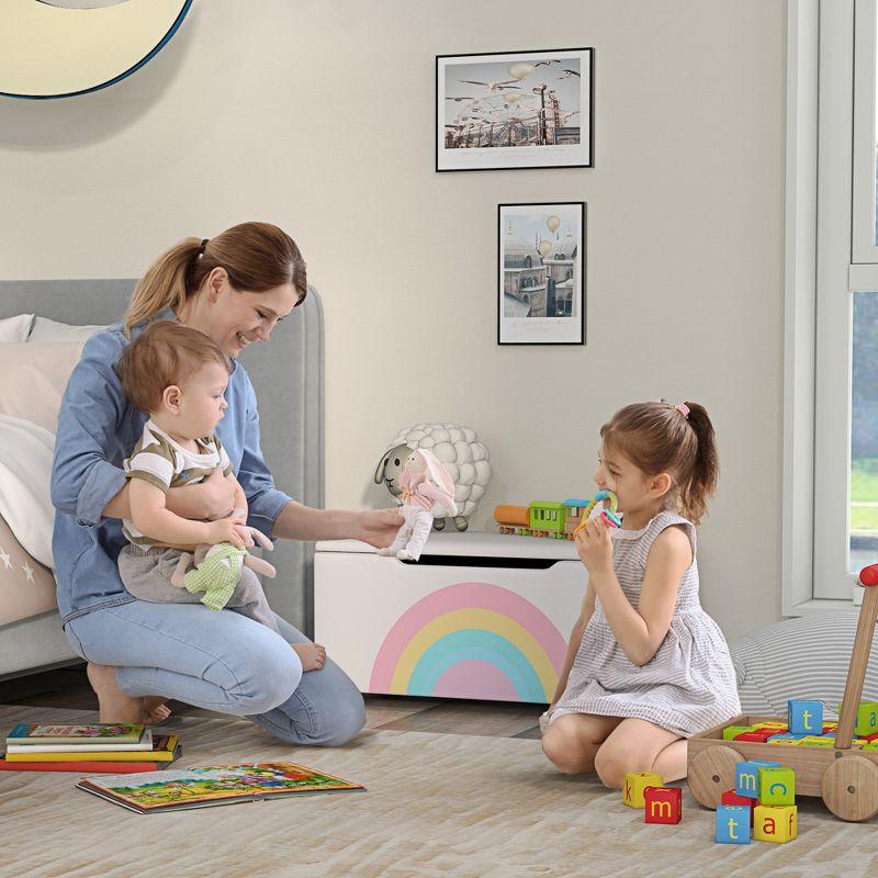
M703 406L627 405L600 428L600 437L607 449L624 454L644 475L671 475L668 500L690 521L699 522L719 476L713 425Z

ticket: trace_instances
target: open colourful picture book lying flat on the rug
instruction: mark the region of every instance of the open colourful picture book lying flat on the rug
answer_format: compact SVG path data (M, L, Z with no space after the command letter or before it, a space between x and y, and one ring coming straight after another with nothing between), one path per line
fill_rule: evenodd
M77 789L139 814L317 792L365 790L292 762L204 765L156 774L83 777Z

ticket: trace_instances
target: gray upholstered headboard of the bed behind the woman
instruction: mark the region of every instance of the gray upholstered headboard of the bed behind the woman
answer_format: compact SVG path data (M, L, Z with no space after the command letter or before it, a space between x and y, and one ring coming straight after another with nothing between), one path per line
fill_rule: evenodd
M135 280L0 281L0 318L37 314L69 324L122 318ZM279 324L271 344L241 354L259 399L262 451L274 482L307 506L323 506L323 309L308 288L304 304ZM266 581L275 612L313 631L313 545L284 540L270 556L278 578Z

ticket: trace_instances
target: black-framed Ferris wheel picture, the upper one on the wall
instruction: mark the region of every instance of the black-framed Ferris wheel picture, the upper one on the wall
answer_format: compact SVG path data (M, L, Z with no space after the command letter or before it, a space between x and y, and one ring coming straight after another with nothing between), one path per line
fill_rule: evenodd
M436 56L436 170L594 167L594 49Z

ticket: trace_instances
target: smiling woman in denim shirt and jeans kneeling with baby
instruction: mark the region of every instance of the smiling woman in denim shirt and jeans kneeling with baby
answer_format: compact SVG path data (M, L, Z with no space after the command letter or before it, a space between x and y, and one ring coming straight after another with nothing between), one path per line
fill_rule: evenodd
M395 510L308 508L274 487L262 460L256 396L236 358L247 345L268 341L306 291L294 241L275 226L245 223L211 240L187 238L159 257L124 322L83 348L58 420L53 552L64 630L89 663L102 722L156 721L167 716L160 705L175 698L248 717L294 744L344 744L363 725L362 696L331 660L301 675L289 644L307 639L283 619L279 637L236 612L135 600L116 566L125 544L121 519L130 517L122 461L146 416L125 402L113 365L157 318L202 330L232 358L228 408L217 432L247 495L250 526L274 538L353 538L378 548L393 541L402 525ZM167 505L184 518L216 519L230 514L233 494L217 471L171 489Z

